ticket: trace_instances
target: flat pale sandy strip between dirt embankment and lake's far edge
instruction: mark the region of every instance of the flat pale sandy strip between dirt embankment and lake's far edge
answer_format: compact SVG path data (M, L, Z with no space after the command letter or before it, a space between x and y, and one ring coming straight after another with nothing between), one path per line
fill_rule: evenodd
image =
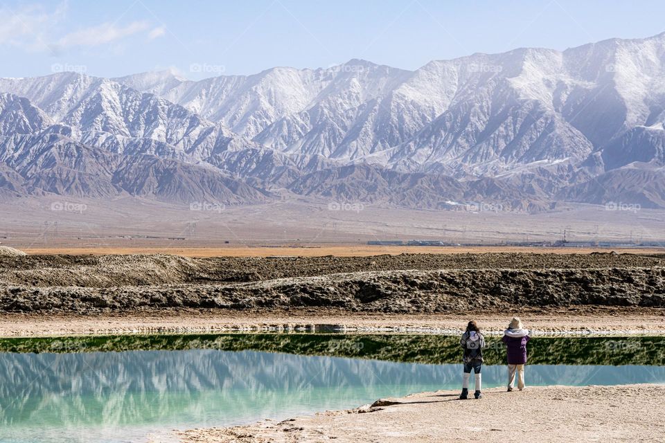
M520 314L536 335L665 335L665 309L557 309L495 312L474 318L486 333L499 334L513 314ZM330 310L0 314L0 337L305 330L458 334L469 319L459 314L354 314Z

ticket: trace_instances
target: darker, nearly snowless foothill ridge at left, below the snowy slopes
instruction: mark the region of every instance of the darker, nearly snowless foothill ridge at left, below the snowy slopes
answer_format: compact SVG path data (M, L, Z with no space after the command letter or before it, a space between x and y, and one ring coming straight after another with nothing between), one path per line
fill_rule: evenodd
M184 204L267 200L266 192L210 166L161 159L135 149L137 141L148 147L166 143L140 138L129 143L132 149L109 150L103 149L104 143L99 143L101 147L81 143L72 138L76 134L80 131L68 125L53 125L26 98L0 94L0 196L51 193L112 199L133 195Z

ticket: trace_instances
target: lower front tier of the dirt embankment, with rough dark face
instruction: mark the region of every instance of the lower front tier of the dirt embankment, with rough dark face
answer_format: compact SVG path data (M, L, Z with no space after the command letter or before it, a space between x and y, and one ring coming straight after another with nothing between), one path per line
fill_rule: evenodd
M394 314L537 307L665 307L665 268L443 269L355 272L257 282L121 287L0 285L0 311L307 307Z

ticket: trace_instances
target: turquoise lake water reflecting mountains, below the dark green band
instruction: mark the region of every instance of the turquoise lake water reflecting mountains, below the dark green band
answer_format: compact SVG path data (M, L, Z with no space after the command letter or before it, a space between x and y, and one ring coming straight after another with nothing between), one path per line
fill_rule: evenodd
M338 343L327 348L335 353L359 342L330 343ZM362 354L359 347L350 352ZM457 363L271 349L0 352L0 442L176 441L170 434L174 429L354 408L380 397L456 390L461 382ZM485 388L506 383L504 365L485 365L483 374ZM526 383L665 383L665 366L532 364L526 368Z

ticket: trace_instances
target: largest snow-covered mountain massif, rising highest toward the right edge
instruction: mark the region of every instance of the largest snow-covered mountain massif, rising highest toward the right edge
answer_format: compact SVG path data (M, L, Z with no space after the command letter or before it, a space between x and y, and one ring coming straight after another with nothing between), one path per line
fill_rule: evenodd
M119 81L283 152L493 175L543 160L579 162L633 127L662 123L664 66L662 34L563 52L476 54L414 72L352 60L200 82L146 74ZM646 161L627 163L638 159Z

